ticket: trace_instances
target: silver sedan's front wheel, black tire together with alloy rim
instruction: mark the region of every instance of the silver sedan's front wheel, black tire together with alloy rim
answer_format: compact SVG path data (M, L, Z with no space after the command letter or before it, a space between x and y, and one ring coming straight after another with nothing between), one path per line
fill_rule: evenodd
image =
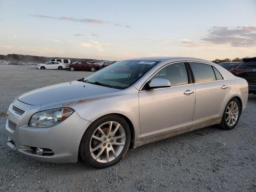
M110 125L112 129L109 133ZM117 128L116 133L114 133L115 128ZM130 139L130 128L124 118L118 115L105 115L94 121L86 130L80 142L79 154L88 166L106 168L124 158Z

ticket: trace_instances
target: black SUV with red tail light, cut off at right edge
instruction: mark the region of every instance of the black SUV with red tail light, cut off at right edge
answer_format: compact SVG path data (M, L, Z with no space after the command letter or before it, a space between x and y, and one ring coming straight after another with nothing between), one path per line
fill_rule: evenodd
M244 78L248 82L249 93L256 94L256 57L246 57L232 69L232 74Z

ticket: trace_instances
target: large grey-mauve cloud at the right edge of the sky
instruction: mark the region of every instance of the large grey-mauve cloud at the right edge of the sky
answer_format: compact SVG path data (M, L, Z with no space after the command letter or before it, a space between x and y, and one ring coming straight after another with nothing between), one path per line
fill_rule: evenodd
M228 27L212 26L203 41L214 44L231 44L233 47L253 47L256 45L256 26Z

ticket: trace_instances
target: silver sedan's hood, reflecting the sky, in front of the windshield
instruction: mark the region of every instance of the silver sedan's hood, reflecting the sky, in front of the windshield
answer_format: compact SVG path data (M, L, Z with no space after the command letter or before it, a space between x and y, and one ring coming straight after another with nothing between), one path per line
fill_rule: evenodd
M65 102L76 98L86 98L118 89L88 84L81 81L66 82L26 92L18 100L30 105Z

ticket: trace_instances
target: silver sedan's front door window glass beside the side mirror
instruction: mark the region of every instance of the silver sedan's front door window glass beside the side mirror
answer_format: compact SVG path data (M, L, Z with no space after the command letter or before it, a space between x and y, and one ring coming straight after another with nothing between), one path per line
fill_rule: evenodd
M188 84L188 74L184 63L170 64L154 75L154 78L164 78L171 86Z

